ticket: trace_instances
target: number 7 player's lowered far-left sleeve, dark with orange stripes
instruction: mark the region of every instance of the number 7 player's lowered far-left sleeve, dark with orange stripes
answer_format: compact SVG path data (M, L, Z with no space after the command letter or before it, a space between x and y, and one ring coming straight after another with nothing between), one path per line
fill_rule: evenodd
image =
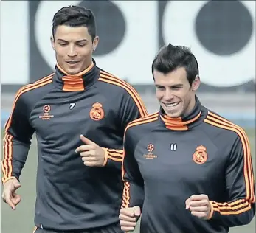
M13 110L5 124L4 155L1 161L3 184L21 175L21 170L27 160L34 129L30 125L30 109L24 97L18 95L13 103Z

